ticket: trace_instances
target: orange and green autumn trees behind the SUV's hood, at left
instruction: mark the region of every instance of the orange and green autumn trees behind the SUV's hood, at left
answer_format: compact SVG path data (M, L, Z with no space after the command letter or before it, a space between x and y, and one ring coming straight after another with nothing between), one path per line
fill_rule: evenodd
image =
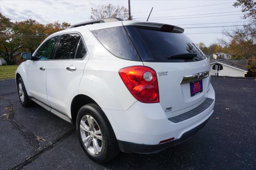
M55 21L44 25L31 19L13 23L0 13L0 57L10 65L18 51L33 53L47 36L69 26L67 22Z

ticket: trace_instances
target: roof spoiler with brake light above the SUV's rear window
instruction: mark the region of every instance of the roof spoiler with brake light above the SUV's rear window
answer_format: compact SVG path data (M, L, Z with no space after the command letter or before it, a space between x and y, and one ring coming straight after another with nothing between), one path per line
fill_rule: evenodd
M124 25L134 25L134 26L142 26L142 27L153 27L160 29L163 32L172 32L172 33L183 33L184 29L182 27L178 27L175 25L168 25L164 23L155 23L155 22L135 22L135 23L124 23Z

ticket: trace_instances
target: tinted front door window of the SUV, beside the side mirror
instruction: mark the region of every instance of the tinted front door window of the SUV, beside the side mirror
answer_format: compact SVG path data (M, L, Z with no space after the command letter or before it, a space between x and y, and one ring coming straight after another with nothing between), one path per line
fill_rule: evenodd
M56 44L56 42L58 41L58 36L57 37L53 37L51 39L48 39L37 51L36 53L36 57L38 58L38 60L49 60L54 46Z

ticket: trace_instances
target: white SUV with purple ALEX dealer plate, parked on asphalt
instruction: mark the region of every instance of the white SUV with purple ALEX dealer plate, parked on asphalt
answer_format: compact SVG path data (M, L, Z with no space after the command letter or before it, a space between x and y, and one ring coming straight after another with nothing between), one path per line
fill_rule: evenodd
M209 62L183 31L118 18L72 25L22 53L20 102L76 125L96 162L177 145L205 125L215 100Z

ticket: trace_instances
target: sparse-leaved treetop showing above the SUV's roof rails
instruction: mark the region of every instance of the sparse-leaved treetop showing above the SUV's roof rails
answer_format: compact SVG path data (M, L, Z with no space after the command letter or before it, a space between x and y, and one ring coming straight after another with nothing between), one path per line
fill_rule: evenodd
M100 5L98 8L91 8L90 18L92 20L110 17L117 17L121 18L122 20L128 20L129 12L124 6L120 7L113 4Z

